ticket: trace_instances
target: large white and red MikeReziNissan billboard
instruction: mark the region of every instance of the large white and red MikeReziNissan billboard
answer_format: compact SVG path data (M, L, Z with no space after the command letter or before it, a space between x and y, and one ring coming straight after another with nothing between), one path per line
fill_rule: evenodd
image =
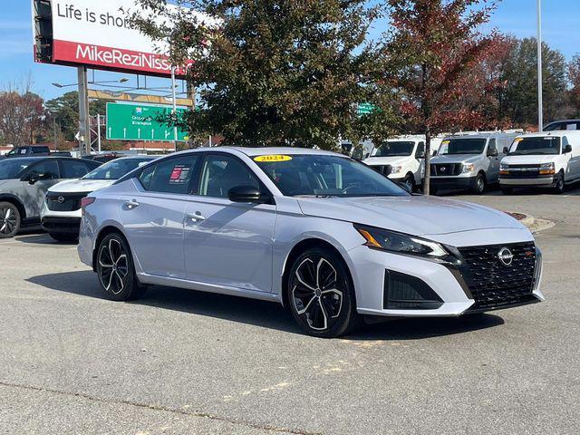
M136 10L134 0L33 0L35 60L169 76L168 46L131 26L127 12ZM39 55L39 44L52 53Z

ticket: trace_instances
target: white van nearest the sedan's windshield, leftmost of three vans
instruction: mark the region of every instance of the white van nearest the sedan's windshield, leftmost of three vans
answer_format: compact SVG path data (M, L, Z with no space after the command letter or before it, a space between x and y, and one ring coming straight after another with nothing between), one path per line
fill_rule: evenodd
M436 153L431 145L431 152ZM425 168L425 136L398 136L374 147L364 163L412 191L421 184Z

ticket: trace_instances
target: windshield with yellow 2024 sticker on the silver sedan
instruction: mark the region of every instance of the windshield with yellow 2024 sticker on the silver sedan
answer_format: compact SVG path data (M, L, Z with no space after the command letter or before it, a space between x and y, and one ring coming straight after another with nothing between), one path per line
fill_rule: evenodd
M310 154L259 156L254 160L288 197L408 195L390 179L352 159Z

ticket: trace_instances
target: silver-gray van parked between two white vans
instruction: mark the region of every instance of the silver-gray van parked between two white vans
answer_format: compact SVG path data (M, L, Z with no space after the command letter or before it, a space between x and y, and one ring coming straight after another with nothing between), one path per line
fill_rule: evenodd
M431 160L430 189L470 189L481 194L498 183L504 150L523 131L464 132L448 136Z

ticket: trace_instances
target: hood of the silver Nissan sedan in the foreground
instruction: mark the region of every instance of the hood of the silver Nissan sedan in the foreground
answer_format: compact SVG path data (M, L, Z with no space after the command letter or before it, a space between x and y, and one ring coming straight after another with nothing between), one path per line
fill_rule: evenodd
M307 216L381 227L413 236L524 228L504 212L445 198L298 198L298 203Z

